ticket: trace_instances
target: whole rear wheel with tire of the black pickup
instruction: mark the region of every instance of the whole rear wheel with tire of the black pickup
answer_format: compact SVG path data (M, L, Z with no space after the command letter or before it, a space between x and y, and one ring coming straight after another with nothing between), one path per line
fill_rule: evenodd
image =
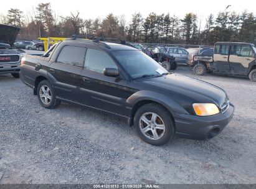
M41 81L37 86L37 98L44 108L52 109L60 104L60 101L56 99L54 88L47 80Z

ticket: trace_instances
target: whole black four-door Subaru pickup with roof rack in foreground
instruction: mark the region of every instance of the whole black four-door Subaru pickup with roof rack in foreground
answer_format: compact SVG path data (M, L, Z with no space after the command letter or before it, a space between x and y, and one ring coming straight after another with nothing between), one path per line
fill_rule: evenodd
M156 73L146 74L150 69L156 69ZM136 128L140 125L141 132L150 128L144 138L137 130L141 139L154 145L165 144L175 135L211 139L229 123L234 112L227 94L217 86L169 73L140 50L107 42L69 39L54 45L42 57L26 55L21 62L21 79L45 108L68 101L105 111ZM219 113L197 116L195 103L214 104ZM149 120L155 115L152 126ZM165 126L164 122L168 127L163 134L157 129ZM156 136L163 138L154 140L157 137L150 136L156 131Z

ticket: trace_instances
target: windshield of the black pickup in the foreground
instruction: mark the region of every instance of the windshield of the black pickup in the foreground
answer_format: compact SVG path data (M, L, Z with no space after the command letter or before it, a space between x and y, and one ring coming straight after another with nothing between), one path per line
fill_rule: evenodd
M113 55L133 79L169 73L155 60L138 50L116 50Z

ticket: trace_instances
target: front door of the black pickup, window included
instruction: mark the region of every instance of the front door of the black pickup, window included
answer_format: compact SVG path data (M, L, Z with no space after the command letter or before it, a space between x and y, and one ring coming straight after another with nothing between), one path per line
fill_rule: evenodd
M104 68L118 67L107 53L88 48L80 78L80 101L93 108L125 115L128 81L122 75L103 75Z

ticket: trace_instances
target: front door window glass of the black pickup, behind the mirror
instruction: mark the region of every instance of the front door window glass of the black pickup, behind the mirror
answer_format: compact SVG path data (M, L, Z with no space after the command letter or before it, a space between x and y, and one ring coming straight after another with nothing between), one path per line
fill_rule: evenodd
M117 69L115 62L107 53L88 48L85 57L85 69L103 73L104 68Z

